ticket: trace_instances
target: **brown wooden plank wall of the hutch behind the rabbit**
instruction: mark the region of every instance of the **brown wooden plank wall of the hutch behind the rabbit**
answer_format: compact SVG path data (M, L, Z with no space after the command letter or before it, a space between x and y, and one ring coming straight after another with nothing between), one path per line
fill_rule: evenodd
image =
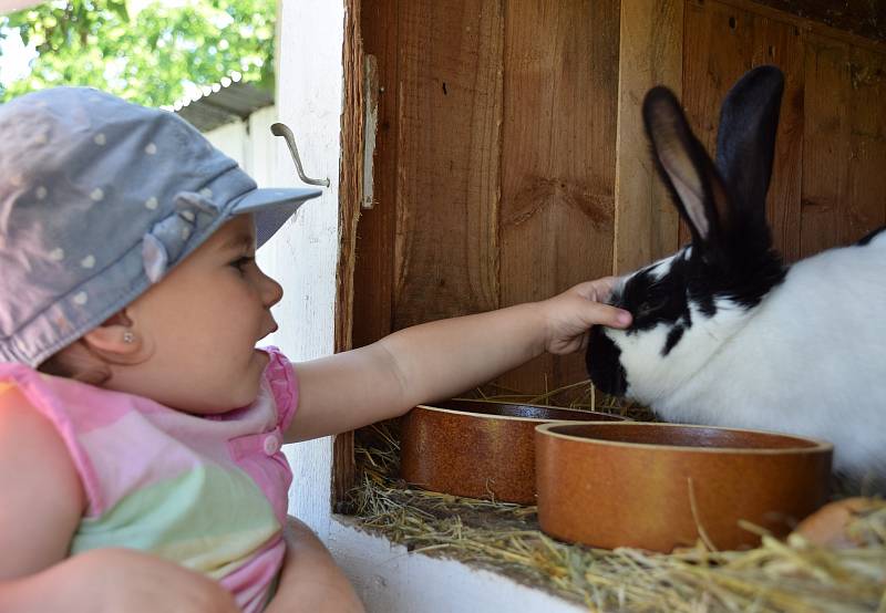
M882 43L748 0L365 0L362 13L381 91L354 345L671 252L677 217L638 129L656 83L681 93L712 150L734 80L785 71L769 218L789 260L886 222ZM502 383L585 377L580 355L543 357Z

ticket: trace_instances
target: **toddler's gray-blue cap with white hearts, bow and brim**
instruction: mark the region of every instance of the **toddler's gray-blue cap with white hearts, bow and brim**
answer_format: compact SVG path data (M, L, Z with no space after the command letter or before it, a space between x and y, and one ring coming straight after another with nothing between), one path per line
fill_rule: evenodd
M0 106L0 361L37 366L233 216L258 243L319 189L257 189L173 113L86 87Z

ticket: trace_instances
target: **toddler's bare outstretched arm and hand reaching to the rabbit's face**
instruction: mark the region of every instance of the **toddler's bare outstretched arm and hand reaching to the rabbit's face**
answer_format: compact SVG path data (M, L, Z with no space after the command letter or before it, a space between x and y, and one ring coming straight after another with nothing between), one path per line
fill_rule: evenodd
M601 303L614 281L589 281L543 302L416 325L299 364L299 408L287 440L402 415L416 404L486 383L545 351L578 351L591 325L630 323L629 313Z

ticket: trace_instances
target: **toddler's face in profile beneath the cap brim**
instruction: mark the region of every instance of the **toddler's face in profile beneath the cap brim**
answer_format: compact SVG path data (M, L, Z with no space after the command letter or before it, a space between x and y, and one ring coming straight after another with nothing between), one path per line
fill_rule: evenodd
M105 386L198 414L255 401L268 359L254 347L277 329L270 306L282 288L254 257L253 218L237 216L131 303L146 359Z

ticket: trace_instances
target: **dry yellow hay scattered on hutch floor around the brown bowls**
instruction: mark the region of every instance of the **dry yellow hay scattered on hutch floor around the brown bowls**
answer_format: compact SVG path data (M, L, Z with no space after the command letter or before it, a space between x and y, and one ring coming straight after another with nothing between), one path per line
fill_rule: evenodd
M550 398L562 398L563 392L530 399L553 404ZM581 408L580 396L560 406ZM528 404L517 394L494 399ZM597 409L642 413L597 401ZM585 398L584 407L593 402ZM886 501L876 501L848 527L859 543L849 549L791 534L784 542L763 536L761 547L743 552L711 551L701 541L671 554L608 551L548 538L538 530L535 507L411 489L396 477L395 423L361 430L356 451L360 484L352 502L362 528L410 551L503 573L591 611L886 613Z

